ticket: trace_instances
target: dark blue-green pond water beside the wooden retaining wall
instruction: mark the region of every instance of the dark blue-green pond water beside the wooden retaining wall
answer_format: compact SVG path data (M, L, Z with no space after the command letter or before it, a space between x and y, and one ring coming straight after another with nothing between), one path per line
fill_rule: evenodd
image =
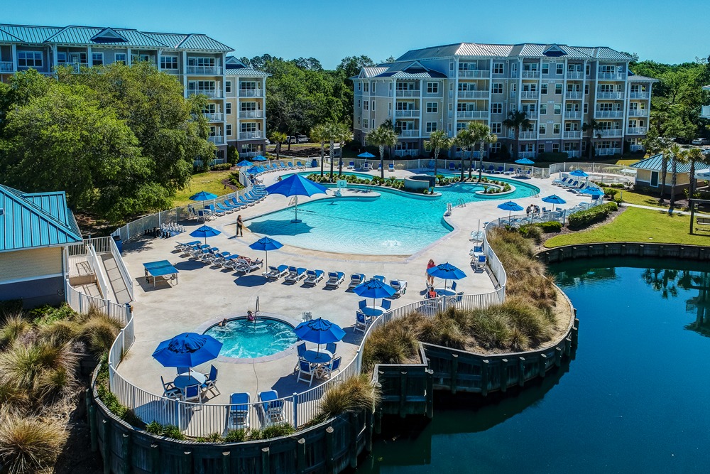
M595 259L551 271L578 310L574 360L512 397L437 392L428 424L386 419L398 426L383 423L359 474L710 469L710 266Z

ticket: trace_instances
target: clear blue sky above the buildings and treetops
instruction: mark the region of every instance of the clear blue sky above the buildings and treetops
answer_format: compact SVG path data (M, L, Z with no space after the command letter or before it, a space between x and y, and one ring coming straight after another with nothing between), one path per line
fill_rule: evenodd
M706 0L6 0L0 21L205 33L238 57L312 57L334 68L348 55L381 61L461 41L603 45L682 63L710 55L707 12Z

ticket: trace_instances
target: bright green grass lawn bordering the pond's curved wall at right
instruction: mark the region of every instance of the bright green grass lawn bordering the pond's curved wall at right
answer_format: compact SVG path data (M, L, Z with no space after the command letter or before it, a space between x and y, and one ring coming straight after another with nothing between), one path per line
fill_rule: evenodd
M626 198L626 193L624 193ZM586 244L589 242L660 242L710 245L710 232L689 235L690 216L665 211L628 208L612 222L592 230L558 235L545 242L545 247ZM696 230L697 232L697 230Z

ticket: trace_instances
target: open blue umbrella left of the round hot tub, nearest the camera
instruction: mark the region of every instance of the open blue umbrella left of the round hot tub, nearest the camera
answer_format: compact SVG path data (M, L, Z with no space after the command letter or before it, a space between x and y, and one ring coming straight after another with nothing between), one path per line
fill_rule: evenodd
M153 358L163 367L192 368L214 359L221 349L222 343L211 335L182 333L158 344Z

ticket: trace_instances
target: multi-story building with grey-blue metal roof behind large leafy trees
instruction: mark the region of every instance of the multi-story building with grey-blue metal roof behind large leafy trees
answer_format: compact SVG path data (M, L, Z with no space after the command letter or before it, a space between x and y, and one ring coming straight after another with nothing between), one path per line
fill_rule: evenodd
M92 26L21 26L0 24L0 80L17 71L33 68L52 74L55 68L69 65L77 72L82 66L91 67L121 62L127 65L146 61L182 83L185 97L202 94L209 99L203 113L209 120L209 140L217 145L217 158L224 158L230 136L239 122L226 120L226 97L231 92L227 79L226 53L232 48L202 34L152 33L126 28ZM241 64L241 63L239 63ZM243 65L242 65L243 66ZM261 74L249 70L251 74ZM263 82L261 83L261 112L263 115ZM239 76L241 77L241 76ZM244 77L250 77L245 75ZM241 79L240 79L241 80ZM235 82L236 83L236 82ZM232 105L234 106L234 104ZM241 124L239 124L241 126ZM249 129L251 126L247 126ZM263 119L261 135L263 137ZM253 139L245 140L251 146Z

